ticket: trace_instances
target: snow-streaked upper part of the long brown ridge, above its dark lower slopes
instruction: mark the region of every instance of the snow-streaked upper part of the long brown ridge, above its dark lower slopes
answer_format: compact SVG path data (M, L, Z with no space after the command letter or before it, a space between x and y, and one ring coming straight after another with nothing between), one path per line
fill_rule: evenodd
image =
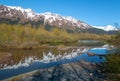
M43 22L43 24L49 24L51 26L59 26L59 27L76 27L80 29L90 28L90 26L84 22L81 22L78 19L75 19L71 16L62 16L59 14L45 12L45 13L35 13L30 8L25 9L19 6L0 6L0 12L7 12L6 17L17 18L19 16L21 22L35 21L39 20ZM3 10L3 9L4 10ZM5 18L6 18L5 17ZM16 19L17 20L17 19Z

